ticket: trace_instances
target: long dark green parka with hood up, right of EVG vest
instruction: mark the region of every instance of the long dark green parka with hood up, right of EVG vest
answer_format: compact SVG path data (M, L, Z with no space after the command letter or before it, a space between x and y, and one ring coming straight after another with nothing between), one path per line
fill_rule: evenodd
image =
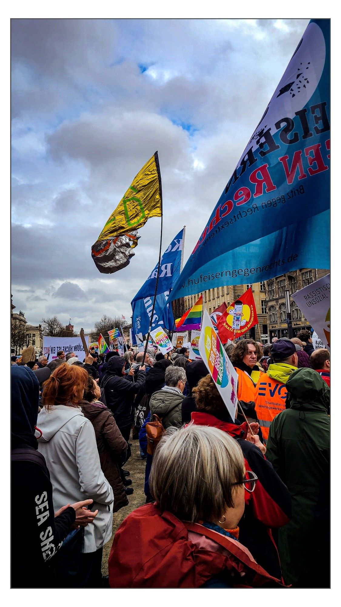
M329 586L329 387L310 368L286 382L285 411L271 422L266 455L291 493L292 520L279 529L285 582Z

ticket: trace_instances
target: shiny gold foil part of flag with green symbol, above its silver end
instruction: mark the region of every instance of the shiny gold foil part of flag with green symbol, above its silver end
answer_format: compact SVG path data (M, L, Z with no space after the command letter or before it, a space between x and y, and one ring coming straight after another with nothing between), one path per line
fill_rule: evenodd
M157 152L133 179L98 240L123 236L142 228L149 217L161 217L161 176Z

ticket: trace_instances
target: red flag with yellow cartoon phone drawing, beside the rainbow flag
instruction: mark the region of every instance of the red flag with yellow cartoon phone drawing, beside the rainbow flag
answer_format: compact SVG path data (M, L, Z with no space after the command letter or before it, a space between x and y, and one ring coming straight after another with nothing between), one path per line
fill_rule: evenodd
M243 304L243 310L241 313L240 328L236 331L232 329L232 322L234 317L234 305L238 302ZM258 324L257 312L255 309L255 300L252 295L252 288L250 287L243 295L241 295L235 302L233 302L225 311L217 325L218 336L223 344L226 344L228 339L235 339L240 337L243 333L246 333L251 327Z

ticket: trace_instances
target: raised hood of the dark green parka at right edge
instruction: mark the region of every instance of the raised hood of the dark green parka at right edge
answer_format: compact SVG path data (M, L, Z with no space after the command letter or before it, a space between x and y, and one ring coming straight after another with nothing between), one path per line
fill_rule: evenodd
M285 384L291 409L329 411L330 390L314 369L301 368L291 373Z

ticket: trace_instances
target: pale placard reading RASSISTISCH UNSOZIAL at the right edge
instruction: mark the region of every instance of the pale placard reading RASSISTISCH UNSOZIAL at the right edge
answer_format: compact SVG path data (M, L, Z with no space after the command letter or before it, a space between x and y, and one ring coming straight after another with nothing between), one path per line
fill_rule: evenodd
M290 296L320 340L330 346L330 274Z

